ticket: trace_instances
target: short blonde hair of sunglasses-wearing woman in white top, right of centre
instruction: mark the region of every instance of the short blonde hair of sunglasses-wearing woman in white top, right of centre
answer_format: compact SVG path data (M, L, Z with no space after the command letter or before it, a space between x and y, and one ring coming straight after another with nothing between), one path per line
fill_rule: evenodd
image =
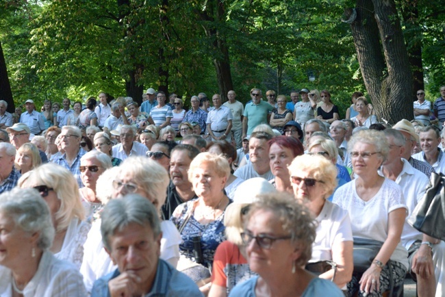
M301 155L296 157L288 168L291 177L296 171L304 171L317 181L322 181L323 188L326 190L325 197L323 197L325 199L331 196L337 187L337 167L325 157Z

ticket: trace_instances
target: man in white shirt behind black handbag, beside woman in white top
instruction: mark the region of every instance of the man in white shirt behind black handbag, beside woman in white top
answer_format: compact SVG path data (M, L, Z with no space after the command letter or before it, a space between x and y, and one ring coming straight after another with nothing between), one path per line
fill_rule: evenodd
M409 214L412 214L424 197L429 179L402 158L405 136L395 129L385 129L383 132L390 144L390 151L383 162L381 173L401 186ZM401 242L409 253L411 273L416 274L418 296L443 296L442 285L437 286L437 292L435 291L436 281L439 284L445 283L445 243L420 233L406 221Z

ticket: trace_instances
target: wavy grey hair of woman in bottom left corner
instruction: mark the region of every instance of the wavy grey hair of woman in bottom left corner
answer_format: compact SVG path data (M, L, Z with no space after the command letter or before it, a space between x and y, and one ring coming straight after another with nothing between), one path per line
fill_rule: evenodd
M0 194L0 211L27 233L39 233L37 247L47 250L53 244L54 227L47 203L32 188L13 188Z

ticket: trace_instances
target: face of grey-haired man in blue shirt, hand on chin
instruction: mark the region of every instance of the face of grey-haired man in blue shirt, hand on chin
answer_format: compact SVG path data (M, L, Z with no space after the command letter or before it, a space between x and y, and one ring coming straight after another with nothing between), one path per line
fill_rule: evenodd
M136 274L138 283L147 283L156 274L161 238L162 233L155 236L148 224L131 223L108 237L110 250L107 253L120 273ZM138 295L145 293L138 292Z

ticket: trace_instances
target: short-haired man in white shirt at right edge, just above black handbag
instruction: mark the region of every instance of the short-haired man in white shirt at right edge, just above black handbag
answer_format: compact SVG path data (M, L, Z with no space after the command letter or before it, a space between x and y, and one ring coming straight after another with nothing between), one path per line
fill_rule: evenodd
M422 151L412 157L433 166L437 174L445 174L444 152L439 148L440 132L433 126L422 127L419 133Z

